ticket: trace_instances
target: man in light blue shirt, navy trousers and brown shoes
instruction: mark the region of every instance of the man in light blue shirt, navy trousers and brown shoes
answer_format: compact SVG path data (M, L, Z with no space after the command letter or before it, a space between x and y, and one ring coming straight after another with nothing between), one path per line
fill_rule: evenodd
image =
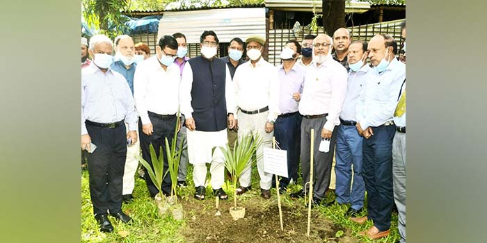
M362 140L362 177L367 190L368 217L353 217L363 224L372 219L374 226L360 234L371 239L390 233L394 197L392 191L392 139L395 133L392 117L401 84L406 78L406 66L395 55L397 43L390 35L380 34L369 42L369 58L373 78L369 78L357 102L358 133Z

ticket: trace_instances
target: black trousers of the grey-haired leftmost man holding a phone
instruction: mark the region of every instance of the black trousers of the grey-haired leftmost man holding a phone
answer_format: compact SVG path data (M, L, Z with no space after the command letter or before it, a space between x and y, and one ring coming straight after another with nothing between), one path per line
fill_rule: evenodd
M106 214L122 211L122 177L127 158L125 124L101 128L86 124L91 142L97 146L87 153L90 173L90 196L93 212Z

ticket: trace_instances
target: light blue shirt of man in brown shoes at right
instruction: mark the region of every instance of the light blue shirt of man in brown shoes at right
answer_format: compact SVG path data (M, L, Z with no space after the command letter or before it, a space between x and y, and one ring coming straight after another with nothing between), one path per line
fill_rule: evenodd
M406 65L396 58L392 58L381 74L377 74L374 68L371 71L375 74L362 87L356 110L357 122L360 122L364 130L369 126L381 126L386 121L392 120L397 96L406 78Z

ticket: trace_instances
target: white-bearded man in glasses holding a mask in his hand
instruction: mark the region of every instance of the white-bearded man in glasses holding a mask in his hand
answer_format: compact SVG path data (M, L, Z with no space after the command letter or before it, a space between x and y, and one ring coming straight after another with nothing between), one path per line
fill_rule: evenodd
M301 171L303 188L308 191L310 181L310 137L314 129L314 167L313 167L313 204L319 204L325 198L330 185L333 150L335 149L336 129L340 125L338 116L346 93L346 69L331 56L333 40L330 36L319 34L313 40L313 64L305 74L305 83L299 113L301 122ZM325 141L326 140L326 141ZM321 142L328 149L321 150ZM308 184L307 184L308 183ZM291 194L302 197L305 192Z

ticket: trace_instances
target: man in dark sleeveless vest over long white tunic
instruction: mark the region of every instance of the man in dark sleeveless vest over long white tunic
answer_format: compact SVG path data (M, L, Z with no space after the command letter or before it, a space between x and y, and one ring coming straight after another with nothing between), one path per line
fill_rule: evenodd
M181 111L186 117L189 162L193 164L195 199L205 199L206 163L211 163L214 194L227 200L221 188L225 159L218 146L227 144L227 124L230 129L235 125L232 77L225 62L216 57L216 33L204 31L200 43L202 55L184 65L179 91Z

